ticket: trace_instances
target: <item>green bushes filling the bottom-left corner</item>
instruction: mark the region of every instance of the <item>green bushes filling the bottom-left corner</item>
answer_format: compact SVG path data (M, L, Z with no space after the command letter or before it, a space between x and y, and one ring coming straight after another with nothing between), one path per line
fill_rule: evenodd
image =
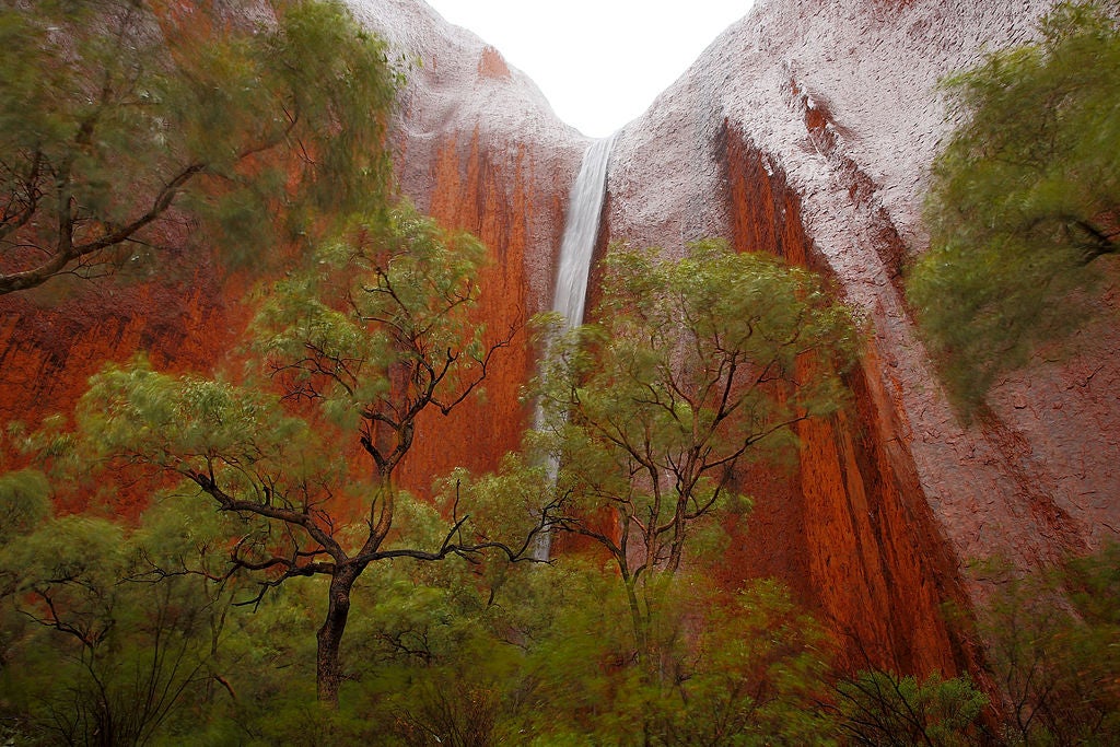
M162 513L133 532L55 519L0 549L0 571L18 579L6 604L22 619L6 626L0 711L19 715L29 744L147 744L192 699L211 700L230 579L197 558L222 539L206 517ZM170 555L177 572L152 564Z

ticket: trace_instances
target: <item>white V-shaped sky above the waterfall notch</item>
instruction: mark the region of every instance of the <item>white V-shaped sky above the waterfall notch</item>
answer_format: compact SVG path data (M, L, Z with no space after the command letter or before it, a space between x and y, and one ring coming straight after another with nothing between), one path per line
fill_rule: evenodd
M754 0L427 0L604 138L640 116Z

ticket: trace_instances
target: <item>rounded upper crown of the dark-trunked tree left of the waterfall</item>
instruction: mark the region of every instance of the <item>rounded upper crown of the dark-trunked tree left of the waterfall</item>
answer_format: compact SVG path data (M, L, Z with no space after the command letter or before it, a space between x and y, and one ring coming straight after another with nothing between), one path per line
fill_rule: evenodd
M407 203L384 218L354 221L307 272L272 284L253 335L289 395L403 445L421 409L446 414L485 376L494 348L470 311L486 249ZM386 467L401 456L382 450Z

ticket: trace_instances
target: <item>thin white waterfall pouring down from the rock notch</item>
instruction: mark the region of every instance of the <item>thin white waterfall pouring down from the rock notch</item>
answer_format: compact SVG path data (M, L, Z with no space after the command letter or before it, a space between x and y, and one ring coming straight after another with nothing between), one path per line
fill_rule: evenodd
M572 329L584 324L584 308L587 304L587 277L595 253L595 240L599 235L599 215L607 187L607 164L615 138L610 136L596 140L584 152L579 176L568 196L568 220L564 223L563 240L560 243L560 267L557 271L556 292L552 310L562 315L564 328ZM538 424L540 424L538 412ZM554 480L557 465L550 465L550 478ZM544 532L536 542L533 557L548 560L552 551L552 534Z

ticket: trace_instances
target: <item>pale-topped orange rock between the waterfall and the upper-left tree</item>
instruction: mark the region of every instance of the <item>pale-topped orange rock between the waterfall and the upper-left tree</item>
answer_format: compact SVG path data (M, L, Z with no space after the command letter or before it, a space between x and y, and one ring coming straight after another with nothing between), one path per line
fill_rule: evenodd
M410 63L396 125L402 192L444 225L491 249L480 319L494 335L551 301L568 189L588 140L501 53L414 0L357 0L358 18ZM427 489L455 466L492 468L517 448L530 412L519 400L534 373L525 337L502 352L485 402L421 423L404 479Z

